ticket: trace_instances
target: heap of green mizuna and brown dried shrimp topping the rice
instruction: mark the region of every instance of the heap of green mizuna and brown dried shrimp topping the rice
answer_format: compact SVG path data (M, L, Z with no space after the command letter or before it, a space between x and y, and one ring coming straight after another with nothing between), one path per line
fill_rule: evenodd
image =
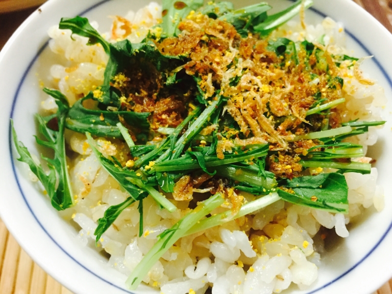
M130 289L180 238L278 200L348 213L343 173L371 172L370 163L356 161L365 157L364 148L350 139L385 122L346 122L341 115L346 99L339 69L358 59L334 56L321 41L271 37L312 3L296 1L269 15L264 2L234 9L226 1L163 0L162 23L137 44L103 37L86 18L61 19L60 29L87 37L87 45L99 44L108 55L103 84L72 106L61 92L45 88L58 105L54 115L36 116L45 139L36 137L37 143L54 151L53 158L42 156L49 172L18 141L11 122L18 160L39 178L57 210L70 208L78 192L72 191L64 134L86 136L102 168L128 195L98 219L96 245L135 202L142 236L147 196L168 213L178 212L181 201L192 203L132 271ZM124 143L126 151L108 156L99 137ZM199 201L191 202L194 193Z

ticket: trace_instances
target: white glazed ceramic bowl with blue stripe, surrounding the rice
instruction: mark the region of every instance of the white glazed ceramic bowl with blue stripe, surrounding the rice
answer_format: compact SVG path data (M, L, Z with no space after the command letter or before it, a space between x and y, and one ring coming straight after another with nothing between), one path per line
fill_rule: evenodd
M256 1L234 1L245 6ZM319 268L319 278L307 291L296 287L290 294L369 294L392 276L392 36L366 11L350 0L315 0L314 10L306 13L307 23L319 22L328 15L343 22L347 29L347 47L356 57L374 55L363 68L384 87L389 103L383 113L388 121L379 131L377 144L369 147L377 159L378 183L385 189L385 209L367 210L363 219L349 226L350 236L327 244ZM77 225L63 221L41 195L40 187L31 183L15 160L10 143L10 117L14 119L19 139L38 154L33 134L33 115L45 95L39 84L49 85L49 65L55 61L47 42L49 26L61 17L83 15L99 23L100 31L110 29L108 15L136 10L148 0L50 0L34 12L15 32L0 53L0 215L25 251L51 276L77 294L132 293L124 288L125 277L106 265L106 258L92 248L75 242ZM289 2L270 1L275 7ZM384 269L384 270L381 270ZM135 293L156 293L141 287Z

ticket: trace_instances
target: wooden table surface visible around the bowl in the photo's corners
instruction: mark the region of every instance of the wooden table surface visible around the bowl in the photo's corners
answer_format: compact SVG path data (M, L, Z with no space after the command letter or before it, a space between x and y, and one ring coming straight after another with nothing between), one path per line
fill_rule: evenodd
M354 1L392 32L392 0ZM35 9L0 14L0 49ZM0 294L72 294L31 260L1 220ZM374 294L392 294L392 279Z

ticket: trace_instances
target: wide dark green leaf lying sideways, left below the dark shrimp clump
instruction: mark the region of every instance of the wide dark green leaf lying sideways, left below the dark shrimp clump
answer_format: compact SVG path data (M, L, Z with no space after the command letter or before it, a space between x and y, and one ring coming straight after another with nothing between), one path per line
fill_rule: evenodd
M79 133L89 132L96 136L121 138L117 126L120 117L137 129L148 131L148 112L93 110L83 106L83 101L93 98L92 93L77 100L68 113L66 127ZM103 120L101 120L103 118Z

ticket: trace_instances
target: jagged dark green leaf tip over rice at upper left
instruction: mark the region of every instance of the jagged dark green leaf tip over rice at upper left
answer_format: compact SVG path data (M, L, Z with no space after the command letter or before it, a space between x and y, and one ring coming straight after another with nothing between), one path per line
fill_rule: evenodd
M102 38L97 30L92 27L88 19L80 16L74 18L62 18L59 24L60 29L70 29L73 34L89 38L87 45L101 44L106 54L110 53L109 43ZM72 38L72 36L71 36Z

